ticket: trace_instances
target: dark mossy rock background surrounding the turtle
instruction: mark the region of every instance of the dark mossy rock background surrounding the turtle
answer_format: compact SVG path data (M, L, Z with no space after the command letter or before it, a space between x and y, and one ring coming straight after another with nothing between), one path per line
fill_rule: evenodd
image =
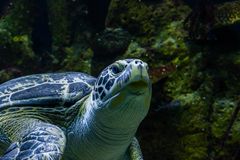
M149 65L146 160L240 159L239 0L1 0L0 82Z

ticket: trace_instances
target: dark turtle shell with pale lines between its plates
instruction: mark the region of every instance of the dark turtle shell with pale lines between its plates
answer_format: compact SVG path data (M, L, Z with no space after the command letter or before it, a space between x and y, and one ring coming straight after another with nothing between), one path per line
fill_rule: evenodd
M88 95L96 78L79 72L35 74L0 85L0 116L22 111L66 121L66 110ZM79 108L78 108L79 109Z

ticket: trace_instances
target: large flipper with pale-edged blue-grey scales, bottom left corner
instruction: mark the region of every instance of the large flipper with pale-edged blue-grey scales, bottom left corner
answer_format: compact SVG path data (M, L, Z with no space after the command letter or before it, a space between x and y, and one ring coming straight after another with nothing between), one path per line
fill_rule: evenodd
M63 131L55 125L41 123L19 142L14 142L0 160L60 160L65 148Z

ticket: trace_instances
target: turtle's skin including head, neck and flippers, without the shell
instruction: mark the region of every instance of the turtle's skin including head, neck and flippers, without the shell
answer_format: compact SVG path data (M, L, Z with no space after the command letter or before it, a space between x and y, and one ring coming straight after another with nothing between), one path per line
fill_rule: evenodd
M142 160L134 136L150 99L147 64L117 61L103 70L90 94L69 108L79 111L67 128L52 124L50 114L38 112L41 107L1 112L0 128L12 145L0 160Z

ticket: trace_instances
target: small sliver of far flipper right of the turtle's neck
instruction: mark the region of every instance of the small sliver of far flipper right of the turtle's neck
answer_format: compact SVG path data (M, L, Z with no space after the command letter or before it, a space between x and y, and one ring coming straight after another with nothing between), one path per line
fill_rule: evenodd
M143 160L141 148L136 137L133 138L129 151L131 160Z

